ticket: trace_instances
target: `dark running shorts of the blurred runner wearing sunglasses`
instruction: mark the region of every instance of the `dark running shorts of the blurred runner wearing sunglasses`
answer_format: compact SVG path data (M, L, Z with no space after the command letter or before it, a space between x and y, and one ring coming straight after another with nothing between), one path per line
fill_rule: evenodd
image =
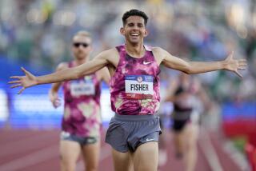
M94 144L98 141L98 137L78 137L77 135L70 134L62 131L61 140L62 141L76 141L80 145L90 145Z

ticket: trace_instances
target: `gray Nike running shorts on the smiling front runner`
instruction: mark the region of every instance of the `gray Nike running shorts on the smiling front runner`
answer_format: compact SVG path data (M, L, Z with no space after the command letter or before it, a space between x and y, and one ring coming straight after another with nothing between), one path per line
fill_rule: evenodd
M134 152L146 142L158 142L161 134L157 115L115 114L106 132L106 143L119 152Z

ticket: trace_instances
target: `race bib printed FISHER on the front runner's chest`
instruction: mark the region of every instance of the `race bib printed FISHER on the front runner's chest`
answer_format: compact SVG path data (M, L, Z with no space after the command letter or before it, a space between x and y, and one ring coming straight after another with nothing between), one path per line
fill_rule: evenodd
M154 94L153 76L151 75L126 75L126 98L146 99Z

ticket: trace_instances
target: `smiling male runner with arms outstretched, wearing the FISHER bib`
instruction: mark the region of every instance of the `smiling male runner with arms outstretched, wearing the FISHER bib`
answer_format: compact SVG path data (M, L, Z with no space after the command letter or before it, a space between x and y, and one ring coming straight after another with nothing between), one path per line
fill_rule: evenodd
M186 74L214 70L230 70L238 76L245 70L245 60L235 60L233 53L220 62L186 62L160 47L144 46L148 17L140 10L129 10L122 16L120 33L125 45L98 54L92 61L61 70L54 74L35 77L22 68L26 76L13 76L11 87L27 87L52 82L63 82L92 74L102 67L110 70L111 107L116 115L110 122L106 142L113 150L115 170L157 170L159 120L159 66L180 70ZM134 165L134 166L133 166Z

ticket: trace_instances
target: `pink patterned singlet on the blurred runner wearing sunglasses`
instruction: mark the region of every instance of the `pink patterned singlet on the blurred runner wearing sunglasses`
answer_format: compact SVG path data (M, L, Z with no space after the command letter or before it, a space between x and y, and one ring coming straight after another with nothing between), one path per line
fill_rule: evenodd
M69 67L73 67L72 62ZM98 137L101 129L101 83L96 74L64 82L62 130L79 137Z

